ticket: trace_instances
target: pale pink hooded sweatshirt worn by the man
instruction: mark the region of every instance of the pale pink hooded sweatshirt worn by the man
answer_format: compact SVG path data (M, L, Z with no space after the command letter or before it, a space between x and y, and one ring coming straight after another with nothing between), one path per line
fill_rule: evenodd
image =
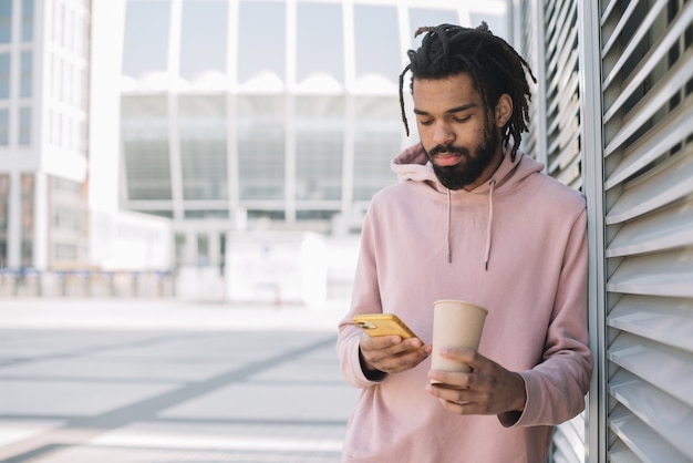
M544 462L552 426L585 409L592 358L587 332L583 197L509 150L493 178L448 191L421 145L400 154L400 183L373 196L361 238L351 310L337 350L361 388L343 462ZM489 311L479 352L525 379L519 416L459 416L424 388L431 360L370 381L359 364L356 313L393 312L431 343L433 301Z

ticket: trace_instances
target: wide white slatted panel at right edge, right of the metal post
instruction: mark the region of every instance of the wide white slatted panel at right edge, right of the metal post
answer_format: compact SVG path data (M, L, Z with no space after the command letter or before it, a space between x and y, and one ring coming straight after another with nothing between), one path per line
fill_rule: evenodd
M693 1L601 4L611 462L693 461Z

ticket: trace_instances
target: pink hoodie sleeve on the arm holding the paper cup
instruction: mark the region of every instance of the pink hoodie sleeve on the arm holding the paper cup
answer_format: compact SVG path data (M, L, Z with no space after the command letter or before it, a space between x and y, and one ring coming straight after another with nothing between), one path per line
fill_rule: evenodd
M587 325L587 212L568 239L542 361L520 372L527 402L521 415L500 415L505 426L556 425L585 410L593 367Z

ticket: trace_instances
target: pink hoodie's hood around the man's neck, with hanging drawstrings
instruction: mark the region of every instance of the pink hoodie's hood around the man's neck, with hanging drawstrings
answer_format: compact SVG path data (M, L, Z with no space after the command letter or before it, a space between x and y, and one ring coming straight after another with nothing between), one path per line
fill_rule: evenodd
M488 219L486 225L486 248L484 269L488 270L490 260L492 241L493 241L493 223L494 223L494 195L504 195L513 192L528 176L539 173L544 169L544 164L526 156L524 152L517 151L515 162L510 160L511 145L506 144L504 157L496 172L484 184L475 189L467 192L466 189L452 191L445 187L438 181L433 166L424 152L421 143L410 146L397 155L391 167L397 175L400 182L422 182L428 185L435 192L445 197L447 202L447 261L453 261L453 249L451 248L451 224L452 204L454 200L486 200L488 203ZM459 198L459 199L458 199Z

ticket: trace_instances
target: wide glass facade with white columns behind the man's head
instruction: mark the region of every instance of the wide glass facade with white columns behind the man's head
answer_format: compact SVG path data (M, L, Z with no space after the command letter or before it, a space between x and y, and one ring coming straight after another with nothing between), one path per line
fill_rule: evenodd
M414 31L507 29L505 1L428 3L128 0L121 204L172 218L190 246L239 218L330 232L360 217L416 142L397 93Z

